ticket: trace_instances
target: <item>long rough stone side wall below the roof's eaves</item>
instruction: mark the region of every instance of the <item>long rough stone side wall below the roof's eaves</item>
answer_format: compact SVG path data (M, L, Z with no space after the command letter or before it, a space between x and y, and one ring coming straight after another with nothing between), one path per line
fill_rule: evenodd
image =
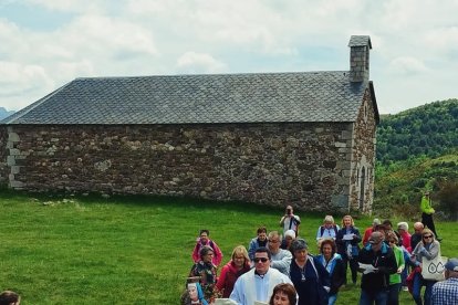
M9 128L13 188L348 209L352 124Z

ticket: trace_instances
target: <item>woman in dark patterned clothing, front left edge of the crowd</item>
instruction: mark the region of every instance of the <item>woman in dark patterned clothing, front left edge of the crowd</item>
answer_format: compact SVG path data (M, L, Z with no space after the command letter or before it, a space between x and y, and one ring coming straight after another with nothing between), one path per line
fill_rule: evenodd
M199 277L205 299L209 301L214 296L214 288L217 283L217 267L212 263L214 250L209 245L204 245L199 255L200 261L192 265L189 277Z

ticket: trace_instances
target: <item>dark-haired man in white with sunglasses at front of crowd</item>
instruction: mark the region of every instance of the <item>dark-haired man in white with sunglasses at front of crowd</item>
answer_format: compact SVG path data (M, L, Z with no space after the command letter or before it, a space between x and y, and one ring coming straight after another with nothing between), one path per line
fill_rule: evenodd
M258 248L253 261L254 267L237 280L229 296L239 305L252 305L256 301L267 304L278 284L292 284L287 275L270 267L271 253L269 249Z

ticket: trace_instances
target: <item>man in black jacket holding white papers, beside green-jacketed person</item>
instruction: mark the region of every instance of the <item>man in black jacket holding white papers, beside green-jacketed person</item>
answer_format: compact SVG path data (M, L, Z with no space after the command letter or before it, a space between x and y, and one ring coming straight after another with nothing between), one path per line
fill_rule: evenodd
M387 303L389 275L397 270L393 250L384 243L382 232L373 232L358 256L361 277L360 305Z

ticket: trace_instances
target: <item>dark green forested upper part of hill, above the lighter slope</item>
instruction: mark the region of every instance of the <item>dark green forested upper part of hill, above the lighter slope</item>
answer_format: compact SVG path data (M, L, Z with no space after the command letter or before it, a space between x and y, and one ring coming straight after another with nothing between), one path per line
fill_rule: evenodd
M377 160L384 165L458 147L458 99L384 115L377 130Z

